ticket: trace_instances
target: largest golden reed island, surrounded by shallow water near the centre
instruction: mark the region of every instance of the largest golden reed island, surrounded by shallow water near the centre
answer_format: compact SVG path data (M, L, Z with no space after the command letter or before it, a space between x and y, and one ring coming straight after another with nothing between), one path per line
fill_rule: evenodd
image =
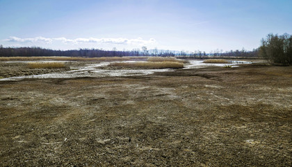
M111 63L111 65L118 67L140 67L147 69L163 69L163 68L183 68L184 63L163 61L163 62L143 62L138 61L135 63Z

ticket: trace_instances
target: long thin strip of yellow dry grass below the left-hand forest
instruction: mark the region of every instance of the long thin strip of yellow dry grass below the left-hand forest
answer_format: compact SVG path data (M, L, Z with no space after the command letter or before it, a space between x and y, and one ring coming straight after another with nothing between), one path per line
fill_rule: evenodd
M54 61L129 61L129 57L98 57L98 58L85 58L85 57L0 57L0 61L40 61L40 60L54 60Z

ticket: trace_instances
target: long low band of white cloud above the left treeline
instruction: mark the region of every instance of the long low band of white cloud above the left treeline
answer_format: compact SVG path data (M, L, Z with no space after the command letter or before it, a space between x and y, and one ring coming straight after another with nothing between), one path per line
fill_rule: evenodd
M156 43L154 38L150 38L149 40L143 40L143 38L136 38L136 39L127 39L127 38L76 38L74 40L67 39L64 37L61 38L43 38L43 37L36 37L36 38L17 38L17 37L10 37L4 41L7 42L45 42L51 43L55 41L60 41L63 43L100 43L100 44L120 44L120 45L149 45Z

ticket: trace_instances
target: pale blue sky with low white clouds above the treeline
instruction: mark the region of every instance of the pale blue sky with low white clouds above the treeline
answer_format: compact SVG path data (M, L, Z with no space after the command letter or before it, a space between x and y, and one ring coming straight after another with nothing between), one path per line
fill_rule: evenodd
M0 0L0 45L252 50L292 34L292 0Z

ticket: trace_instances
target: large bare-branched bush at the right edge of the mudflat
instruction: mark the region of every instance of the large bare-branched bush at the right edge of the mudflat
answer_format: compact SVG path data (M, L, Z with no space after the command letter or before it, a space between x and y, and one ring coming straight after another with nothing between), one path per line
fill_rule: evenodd
M260 56L270 63L283 65L292 64L292 35L273 35L270 33L266 39L261 40Z

